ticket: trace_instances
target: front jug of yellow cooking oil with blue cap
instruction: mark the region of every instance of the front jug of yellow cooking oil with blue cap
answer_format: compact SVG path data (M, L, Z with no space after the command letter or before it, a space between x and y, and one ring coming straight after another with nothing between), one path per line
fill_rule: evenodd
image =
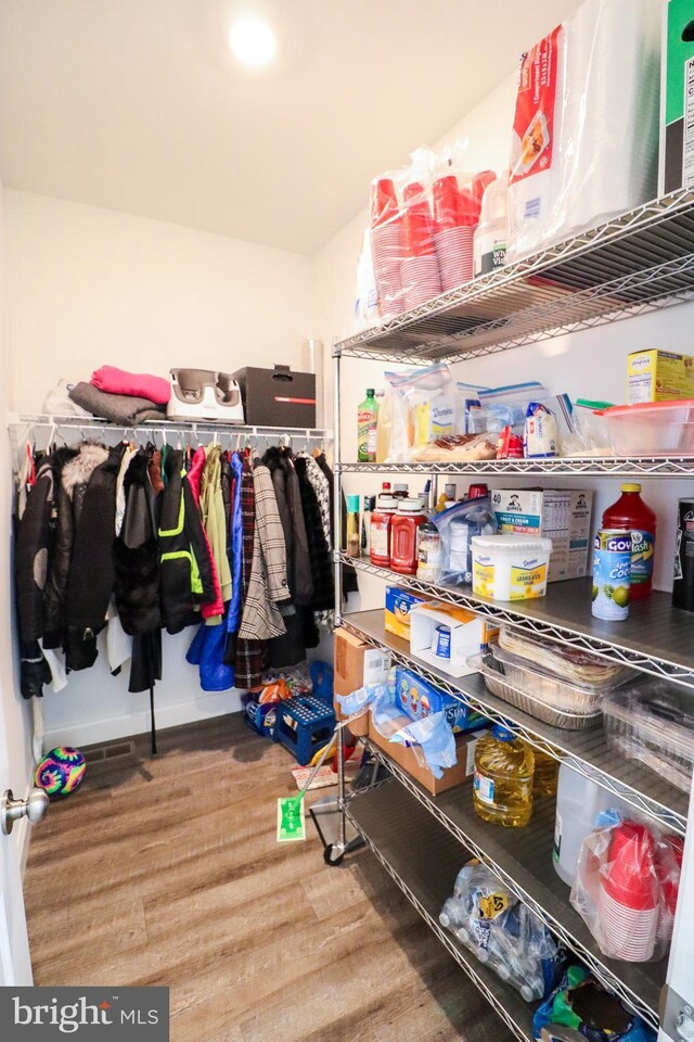
M517 828L532 814L535 755L530 746L494 724L475 747L473 805L484 822Z

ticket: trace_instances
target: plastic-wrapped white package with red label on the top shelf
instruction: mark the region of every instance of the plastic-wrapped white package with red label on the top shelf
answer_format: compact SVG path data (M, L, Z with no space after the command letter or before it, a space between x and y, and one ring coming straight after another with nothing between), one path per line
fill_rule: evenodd
M507 260L653 199L660 5L587 0L520 61Z

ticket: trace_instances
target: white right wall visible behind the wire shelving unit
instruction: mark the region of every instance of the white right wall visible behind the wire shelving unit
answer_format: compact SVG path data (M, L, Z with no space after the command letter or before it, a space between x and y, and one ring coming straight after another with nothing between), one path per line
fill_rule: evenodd
M509 77L476 109L439 142L440 148L453 140L467 138L471 169L502 169L507 164L510 126L515 98L515 77ZM413 145L416 142L413 142ZM403 162L406 156L402 157ZM364 186L364 199L367 186ZM357 258L368 211L358 215L314 258L317 335L326 345L334 339L349 335L354 328L354 297ZM474 358L453 367L457 379L478 381L481 385L498 386L523 380L541 380L553 392L567 392L574 397L624 402L626 391L626 359L630 351L641 347L660 347L692 354L691 330L694 325L694 305L652 313L641 318L617 322L591 331L583 331L541 344L514 348L499 355ZM342 363L342 437L343 458L356 459L357 405L367 386L383 386L383 365L344 359ZM382 478L345 475L348 492L374 492ZM420 491L423 479L411 480L411 488ZM496 487L514 487L530 481L496 479ZM593 520L597 525L602 511L619 495L619 482L600 480L562 480L558 487L587 486L596 493ZM459 490L466 487L459 480ZM658 513L658 545L655 563L655 585L670 589L674 552L674 519L678 496L691 495L691 483L683 481L644 481L644 499ZM362 596L351 598L350 608L380 607L383 584L360 575Z

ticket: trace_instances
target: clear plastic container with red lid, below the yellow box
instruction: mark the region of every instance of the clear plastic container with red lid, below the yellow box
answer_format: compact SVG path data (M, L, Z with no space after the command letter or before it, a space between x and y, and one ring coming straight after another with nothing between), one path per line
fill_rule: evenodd
M605 416L617 456L694 456L694 401L614 405Z

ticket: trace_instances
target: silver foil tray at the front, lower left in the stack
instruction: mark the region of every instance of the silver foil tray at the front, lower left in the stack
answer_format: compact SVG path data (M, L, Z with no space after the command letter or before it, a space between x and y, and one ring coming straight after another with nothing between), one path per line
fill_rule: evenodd
M545 724L581 730L600 721L603 692L590 685L565 683L534 670L496 645L470 664L481 673L492 695Z

